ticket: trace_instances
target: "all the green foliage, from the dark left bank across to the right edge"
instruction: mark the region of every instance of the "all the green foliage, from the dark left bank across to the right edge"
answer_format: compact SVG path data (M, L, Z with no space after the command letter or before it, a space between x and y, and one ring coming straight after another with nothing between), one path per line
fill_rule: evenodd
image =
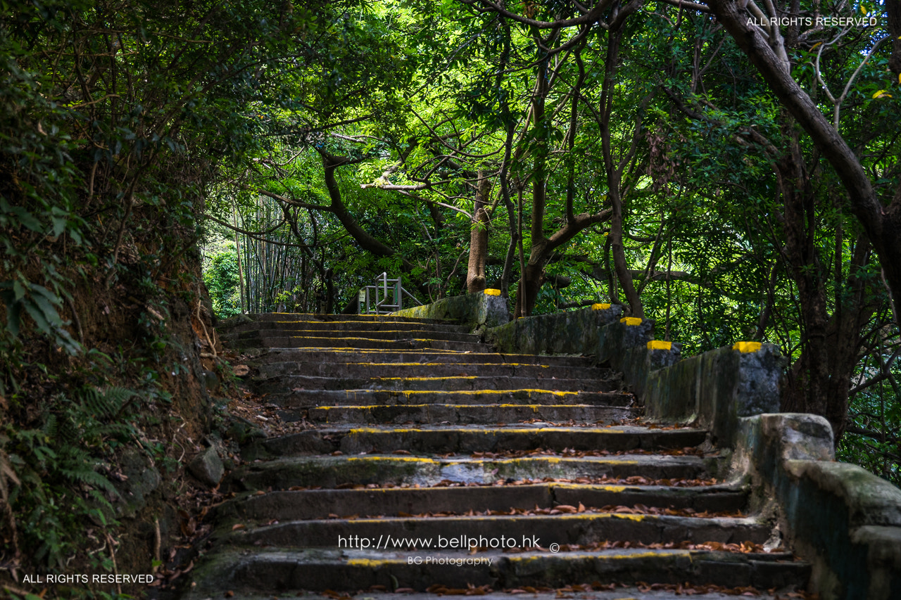
M20 545L45 568L68 559L84 541L77 518L105 519L103 461L137 443L141 410L170 407L160 373L190 377L194 340L173 330L199 310L198 243L223 317L242 306L339 312L383 271L423 301L459 294L478 173L492 183L489 286L520 292L520 229L523 261L538 233L566 234L539 271L570 285L539 286L536 313L623 304L607 214L621 197L626 268L659 337L687 354L775 341L799 360L810 346L802 300L823 298L837 319L860 298L869 350L854 385L878 375L867 362L877 352L896 369L876 350L897 343L878 264L869 250L849 264L866 241L803 137L798 231L810 234L804 264L789 260L795 230L774 166L796 125L718 23L642 5L609 64L620 33L549 33L454 0L0 5L0 491ZM834 33L811 33L829 46L819 72L812 42L790 48L792 74L832 114L824 84L841 90L858 73L839 131L893 197L901 114L878 94L896 90L890 44L861 67L877 38ZM336 186L323 161L340 164ZM569 235L578 214L607 216ZM802 298L808 275L818 287ZM107 317L114 331L98 324ZM875 446L852 438L842 451L896 478L899 409L884 379L851 399Z

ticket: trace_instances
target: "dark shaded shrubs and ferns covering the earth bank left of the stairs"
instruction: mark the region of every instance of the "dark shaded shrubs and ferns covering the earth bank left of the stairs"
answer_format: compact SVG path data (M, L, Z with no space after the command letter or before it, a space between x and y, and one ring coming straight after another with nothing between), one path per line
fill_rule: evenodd
M109 465L157 451L138 440L159 426L149 414L168 412L164 386L180 385L160 372L190 376L167 367L187 362L188 344L196 352L174 336L198 302L204 197L221 165L266 145L254 105L276 95L267 69L304 59L296 36L331 10L0 4L7 557L40 571L100 560L86 532L114 533Z

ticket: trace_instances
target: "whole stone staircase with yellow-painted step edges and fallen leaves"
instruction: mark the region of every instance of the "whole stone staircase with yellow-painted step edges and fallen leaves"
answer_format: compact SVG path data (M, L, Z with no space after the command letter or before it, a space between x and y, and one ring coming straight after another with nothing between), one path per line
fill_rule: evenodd
M392 316L260 314L223 339L305 428L243 450L187 598L775 598L809 577L706 432L642 425L593 359Z

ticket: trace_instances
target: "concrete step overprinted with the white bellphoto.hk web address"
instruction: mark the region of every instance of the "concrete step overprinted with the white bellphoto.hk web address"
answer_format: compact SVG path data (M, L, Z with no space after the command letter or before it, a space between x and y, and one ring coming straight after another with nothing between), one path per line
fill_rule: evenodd
M214 542L235 546L378 550L426 550L428 544L440 547L441 540L448 544L459 542L445 546L457 550L471 549L472 545L488 548L491 543L488 540L498 540L502 548L548 548L551 543L587 545L607 540L628 540L633 544L685 540L762 544L769 538L770 529L756 519L668 514L400 516L287 521L236 531L226 527Z

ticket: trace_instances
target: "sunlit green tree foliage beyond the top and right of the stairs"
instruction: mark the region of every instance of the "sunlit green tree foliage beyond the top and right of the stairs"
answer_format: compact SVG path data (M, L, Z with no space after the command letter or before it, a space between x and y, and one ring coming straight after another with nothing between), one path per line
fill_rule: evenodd
M551 21L579 13L570 3L508 8ZM460 293L467 213L481 171L493 185L489 285L506 287L511 297L520 291L519 248L512 244L519 211L527 260L542 243L534 232L547 238L569 223L568 198L573 214L601 214L617 185L623 255L643 312L657 321L659 337L683 342L687 355L734 341L772 341L804 371L809 308L817 298L826 321L858 312L854 332L842 336L896 342L875 261L866 253L862 264L849 264L866 241L841 183L804 136L792 160L803 163L806 179L797 186L808 204L800 229L787 219L780 191L791 186L780 188L785 180L776 165L794 148L796 123L709 14L642 7L627 20L611 65L612 30L596 27L579 41L578 28L551 34L451 0L379 3L323 17L322 61L291 69L284 88L294 98L291 110L283 110L291 101L274 98L259 106L277 142L260 147L254 167L233 172L239 183L211 203L218 223L233 219L244 230L237 235L249 310L337 312L383 270L403 273L405 286L423 300ZM833 105L815 77L811 40L829 47L820 75L833 92L857 73L840 132L889 198L901 180L890 158L899 142L889 133L901 114L891 98L873 97L895 89L887 44L860 63L884 32L836 33L812 31L810 40L795 43L792 72L827 113ZM561 47L546 62L545 52ZM551 82L538 98L542 70ZM323 86L315 85L317 77ZM536 120L539 105L543 116ZM335 169L341 216L323 159L342 163ZM623 168L618 182L611 167ZM533 204L536 181L545 192L540 207ZM533 231L539 210L543 220ZM351 232L349 222L384 246L363 250L371 239ZM212 239L235 235L218 223ZM807 232L805 250L790 259L790 236ZM612 272L610 233L601 220L543 259L542 281L569 278L569 286L543 283L535 313L626 302L623 277ZM279 245L285 243L296 246ZM233 289L226 275L233 264L222 259L206 269L211 291L223 286L221 297ZM860 363L840 368L851 377L849 369L853 377L869 377Z

